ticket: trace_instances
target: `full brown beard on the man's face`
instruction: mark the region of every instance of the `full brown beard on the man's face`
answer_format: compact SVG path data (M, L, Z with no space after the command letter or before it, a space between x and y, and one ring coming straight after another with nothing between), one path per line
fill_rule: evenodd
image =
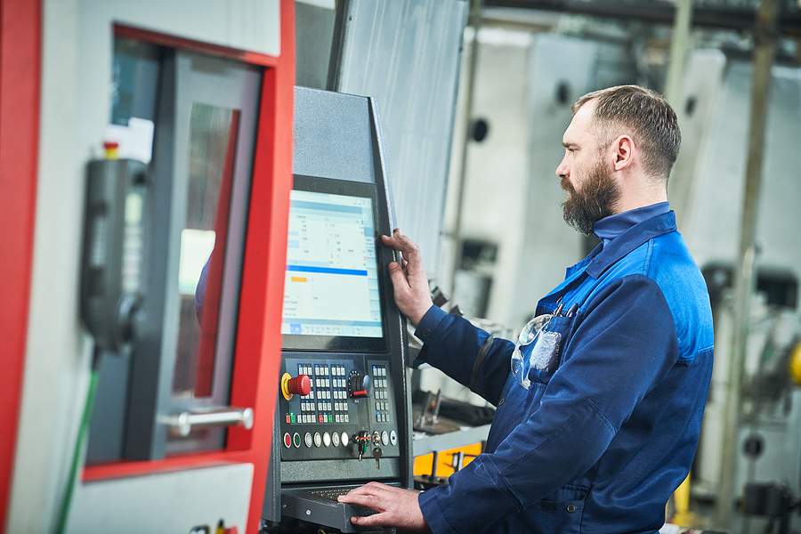
M618 183L604 171L600 161L590 170L580 191L566 177L562 177L562 189L568 192L562 202L564 222L585 235L593 232L593 224L614 213L620 199Z

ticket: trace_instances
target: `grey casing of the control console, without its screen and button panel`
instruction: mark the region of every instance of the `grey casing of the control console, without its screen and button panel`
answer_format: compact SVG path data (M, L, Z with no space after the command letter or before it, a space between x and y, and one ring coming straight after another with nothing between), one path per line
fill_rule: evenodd
M378 220L376 230L389 231L394 223L392 202L385 183L386 170L382 140L378 129L376 104L367 97L330 93L304 87L295 88L295 151L293 172L297 175L318 178L366 182L376 184ZM381 258L392 259L388 251L380 252ZM384 275L382 275L385 277ZM271 465L263 507L263 518L270 522L281 521L281 511L288 514L287 503L281 502L281 490L302 490L303 484L327 483L331 486L345 483L358 484L369 480L382 480L410 487L412 481L411 453L411 401L405 368L407 362L407 339L405 320L392 303L392 287L388 277L382 289L387 313L385 336L388 352L365 354L366 362L384 359L390 366L393 392L394 417L397 424L400 456L382 459L380 469L372 457L365 461L356 459L295 459L281 461L283 448L281 412L287 404L279 394L273 430ZM282 360L306 358L319 360L354 357L348 354L317 352L283 352ZM284 367L282 362L282 368ZM322 428L320 429L322 432ZM292 514L289 514L291 516Z

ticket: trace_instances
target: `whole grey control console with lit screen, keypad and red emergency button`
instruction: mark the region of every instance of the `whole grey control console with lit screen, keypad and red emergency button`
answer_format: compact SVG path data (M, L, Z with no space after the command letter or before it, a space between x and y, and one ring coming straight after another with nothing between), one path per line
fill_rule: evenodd
M280 392L263 530L353 532L368 481L411 487L405 324L392 300L392 206L376 108L295 89Z

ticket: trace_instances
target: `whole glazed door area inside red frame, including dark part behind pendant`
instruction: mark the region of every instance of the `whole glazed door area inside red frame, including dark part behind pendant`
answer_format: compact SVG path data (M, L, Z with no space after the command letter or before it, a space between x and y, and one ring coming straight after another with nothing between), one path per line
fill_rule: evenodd
M102 362L89 463L223 449L252 417L230 398L263 69L117 41L112 120L153 124L150 230L136 342Z

